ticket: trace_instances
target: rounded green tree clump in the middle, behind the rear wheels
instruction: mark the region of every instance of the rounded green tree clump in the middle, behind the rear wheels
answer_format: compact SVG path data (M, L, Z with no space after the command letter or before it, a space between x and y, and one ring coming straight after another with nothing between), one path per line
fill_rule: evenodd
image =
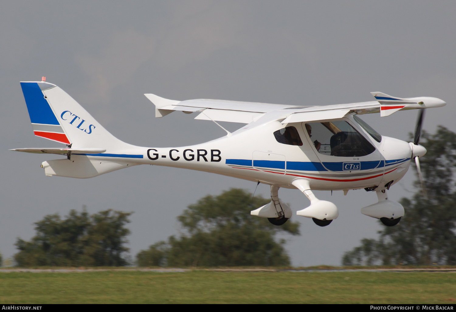
M283 266L290 265L285 240L275 234L299 235L299 224L270 224L250 211L270 202L242 189L208 195L178 217L184 234L150 245L136 255L139 266Z

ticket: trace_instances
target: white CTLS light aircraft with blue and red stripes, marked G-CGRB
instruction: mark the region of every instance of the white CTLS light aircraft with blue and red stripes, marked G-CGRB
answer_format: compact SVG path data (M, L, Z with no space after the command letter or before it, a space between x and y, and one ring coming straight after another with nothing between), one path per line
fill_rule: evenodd
M37 136L66 144L63 148L21 148L12 151L66 155L44 161L47 176L90 178L141 165L171 166L213 172L269 184L271 202L251 212L282 225L291 209L279 199L280 187L297 188L310 206L297 215L326 226L339 215L334 203L319 200L312 190L375 191L378 203L361 213L393 226L404 208L389 200L386 190L397 183L426 149L418 145L423 112L441 107L431 97L398 98L373 92L371 102L327 106L294 106L213 99L177 101L145 94L155 104L155 117L173 111L199 112L195 119L246 124L233 133L206 143L181 147L133 146L115 138L65 91L55 84L21 82ZM421 109L414 142L382 136L358 115L388 116L398 110ZM422 180L422 178L421 178ZM424 189L424 188L423 188Z

